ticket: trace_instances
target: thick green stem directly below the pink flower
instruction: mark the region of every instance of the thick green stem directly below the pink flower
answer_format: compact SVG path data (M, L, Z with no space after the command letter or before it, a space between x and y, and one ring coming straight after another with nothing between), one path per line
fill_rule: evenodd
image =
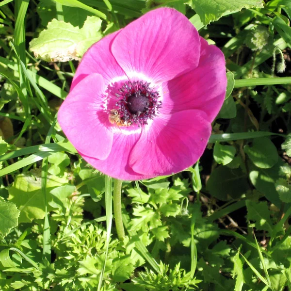
M117 231L117 236L119 240L122 240L125 236L122 215L121 215L121 186L122 180L114 180L114 189L113 189L113 209L114 209L114 219L115 226Z

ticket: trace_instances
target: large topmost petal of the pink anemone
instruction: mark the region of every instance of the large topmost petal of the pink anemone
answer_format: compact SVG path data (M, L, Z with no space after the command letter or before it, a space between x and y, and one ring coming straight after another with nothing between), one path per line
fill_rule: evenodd
M200 39L186 16L159 8L119 32L112 53L129 79L140 73L154 82L168 81L198 65Z

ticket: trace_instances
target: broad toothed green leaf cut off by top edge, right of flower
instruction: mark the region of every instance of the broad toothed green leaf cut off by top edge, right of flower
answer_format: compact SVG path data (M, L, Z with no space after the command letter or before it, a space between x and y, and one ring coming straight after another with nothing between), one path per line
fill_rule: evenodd
M242 8L259 8L264 4L263 0L189 0L188 3L205 25Z

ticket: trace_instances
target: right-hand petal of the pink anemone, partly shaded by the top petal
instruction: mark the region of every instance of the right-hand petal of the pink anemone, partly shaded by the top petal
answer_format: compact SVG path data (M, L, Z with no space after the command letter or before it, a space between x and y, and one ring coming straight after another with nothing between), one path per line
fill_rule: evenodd
M201 58L194 70L162 84L161 112L197 109L212 122L226 94L226 62L223 52L201 37Z

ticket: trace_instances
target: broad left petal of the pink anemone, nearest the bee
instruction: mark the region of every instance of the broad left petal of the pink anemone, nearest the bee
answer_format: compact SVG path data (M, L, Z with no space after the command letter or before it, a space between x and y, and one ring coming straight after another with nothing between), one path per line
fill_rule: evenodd
M76 85L63 102L58 121L68 140L84 155L106 159L111 151L113 132L103 109L104 81L92 74Z

